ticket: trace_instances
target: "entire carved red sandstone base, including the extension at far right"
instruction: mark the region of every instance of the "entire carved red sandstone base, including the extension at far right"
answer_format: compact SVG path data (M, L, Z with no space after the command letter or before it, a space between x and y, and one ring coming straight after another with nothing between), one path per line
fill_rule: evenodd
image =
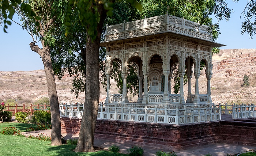
M61 118L61 132L79 134L81 120ZM95 139L180 150L216 142L255 145L256 123L216 121L167 125L97 120Z

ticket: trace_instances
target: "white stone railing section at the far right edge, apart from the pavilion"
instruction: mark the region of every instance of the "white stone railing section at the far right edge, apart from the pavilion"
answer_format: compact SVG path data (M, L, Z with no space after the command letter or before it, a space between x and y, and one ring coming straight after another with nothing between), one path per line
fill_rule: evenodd
M233 105L233 119L241 119L241 118L252 118L256 117L256 106L255 104L241 104L241 105Z

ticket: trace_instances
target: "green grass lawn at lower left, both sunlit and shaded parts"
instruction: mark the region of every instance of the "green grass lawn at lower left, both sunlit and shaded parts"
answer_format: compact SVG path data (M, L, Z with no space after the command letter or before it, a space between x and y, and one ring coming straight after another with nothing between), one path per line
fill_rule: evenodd
M3 127L15 127L24 132L30 127L30 123L4 122ZM73 152L76 145L50 146L50 141L41 141L19 136L0 134L0 156L126 156L121 153L99 151L91 153Z

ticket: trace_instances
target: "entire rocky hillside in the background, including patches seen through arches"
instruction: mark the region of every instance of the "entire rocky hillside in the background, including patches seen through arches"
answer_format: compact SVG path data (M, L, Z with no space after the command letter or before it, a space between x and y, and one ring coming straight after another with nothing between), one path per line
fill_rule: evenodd
M211 96L214 103L256 103L256 49L224 49L212 57L213 75ZM244 75L249 76L249 87L243 87ZM76 99L71 94L72 77L56 78L60 100L84 101L84 94ZM111 93L118 94L112 80ZM48 97L45 73L39 71L0 72L0 101L15 99L18 103L32 103L41 97ZM187 85L184 87L187 98ZM195 92L195 78L191 80L192 94ZM206 94L207 79L204 71L199 77L199 94ZM100 101L104 102L106 92L101 87ZM128 95L130 101L136 101Z

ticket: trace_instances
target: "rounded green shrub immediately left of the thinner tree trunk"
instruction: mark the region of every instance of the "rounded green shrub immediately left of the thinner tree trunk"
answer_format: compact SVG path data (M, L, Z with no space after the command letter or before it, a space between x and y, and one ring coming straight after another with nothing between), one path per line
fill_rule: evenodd
M51 114L49 111L38 110L34 111L32 122L37 124L51 123Z

